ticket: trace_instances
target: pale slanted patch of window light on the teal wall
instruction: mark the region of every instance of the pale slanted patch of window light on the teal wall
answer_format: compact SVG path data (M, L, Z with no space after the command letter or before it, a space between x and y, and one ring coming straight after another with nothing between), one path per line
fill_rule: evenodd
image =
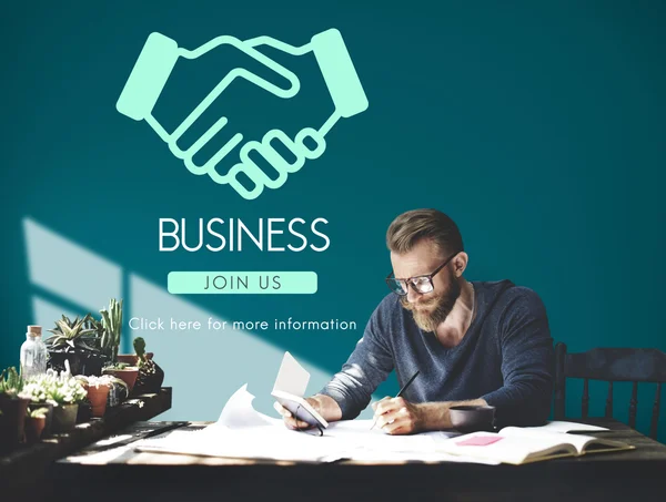
M270 393L284 349L248 331L209 331L209 317L225 318L170 295L165 289L167 274L164 286L153 284L30 217L23 218L23 229L33 287L32 322L51 329L62 314L97 315L109 298L124 297L122 349L129 350L134 337L145 338L155 361L164 369L164 386L173 388L172 409L160 419L216 420L226 399L243 383L256 396L253 403L259 411L276 416ZM123 284L123 275L129 277L129 284ZM132 317L159 317L165 329L130 330L128 322ZM171 318L200 320L202 329L171 329ZM330 375L306 360L300 362L311 373L309 392L317 391ZM371 416L370 408L362 413L362 418Z

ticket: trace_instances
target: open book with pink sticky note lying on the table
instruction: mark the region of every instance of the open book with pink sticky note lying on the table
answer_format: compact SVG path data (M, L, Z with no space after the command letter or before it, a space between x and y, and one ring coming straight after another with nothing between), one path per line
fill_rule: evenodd
M446 453L523 464L559 457L633 450L635 447L592 436L505 427L500 432L473 432L438 444Z

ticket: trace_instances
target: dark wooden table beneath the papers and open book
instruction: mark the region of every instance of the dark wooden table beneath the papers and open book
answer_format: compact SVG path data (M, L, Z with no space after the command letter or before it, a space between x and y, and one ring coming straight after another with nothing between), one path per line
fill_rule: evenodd
M636 450L526 465L465 463L300 464L151 454L129 449L104 465L85 465L95 445L59 461L53 475L89 500L266 501L666 501L666 445L608 419L572 419L607 427L598 436ZM159 424L159 422L158 422ZM155 423L150 429L154 428ZM193 422L190 428L204 423ZM137 424L125 432L141 436ZM104 447L108 448L108 447ZM83 496L84 498L84 496ZM63 499L68 500L68 499Z

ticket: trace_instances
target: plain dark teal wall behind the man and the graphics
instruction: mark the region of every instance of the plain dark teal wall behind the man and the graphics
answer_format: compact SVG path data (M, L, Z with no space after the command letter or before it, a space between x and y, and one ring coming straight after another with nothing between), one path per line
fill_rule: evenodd
M471 256L468 278L509 278L534 288L546 304L554 338L569 350L666 350L658 317L666 278L663 2L278 4L287 2L119 0L3 9L0 367L18 363L26 325L37 319L36 297L84 314L103 304L97 297L77 300L82 287L101 298L118 291L94 276L82 277L71 263L58 287L36 284L26 218L119 265L125 296L132 294L129 274L164 289L171 270L315 270L320 290L310 297L186 300L226 318L336 317L362 327L386 294L385 228L415 207L437 207L458 223ZM115 111L152 31L194 49L220 34L269 34L300 45L332 27L343 33L370 107L335 126L321 158L256 201L189 174L145 123ZM155 113L171 123L182 116L201 79L219 80L229 70L222 61L233 60L221 54L179 62L182 69ZM331 102L316 65L294 59L285 64L303 72L302 93L276 102L255 89L230 88L222 105L234 124L250 132L275 126L295 132L323 123ZM158 218L215 216L325 217L331 247L158 252ZM42 247L56 268L71 258L58 246ZM152 301L149 291L141 293L143 304ZM138 295L132 315L140 316ZM163 352L181 417L199 417L201 401L213 401L211 410L224 402L226 391L211 399L212 380L235 385L243 378L205 359L211 354L233 352L245 371L263 380L279 365L258 368L253 350L231 335L145 336L149 348L153 344ZM252 336L291 350L321 377L340 367L361 329ZM199 380L179 387L175 377L184 373ZM592 389L592 411L601 414L605 388ZM394 390L390 380L380 396ZM628 402L628 389L618 389L618 399L623 392ZM199 397L188 409L179 403L186 393ZM572 414L579 412L578 396L572 386ZM653 396L654 388L639 395L643 431ZM618 417L626 418L622 411ZM214 419L211 413L201 414Z

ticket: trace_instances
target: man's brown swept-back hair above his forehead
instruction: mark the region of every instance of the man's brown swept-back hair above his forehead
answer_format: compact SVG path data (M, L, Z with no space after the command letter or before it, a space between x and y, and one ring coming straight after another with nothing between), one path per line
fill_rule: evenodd
M464 250L457 225L437 209L413 209L398 215L386 232L386 246L403 255L422 239L432 240L445 254Z

